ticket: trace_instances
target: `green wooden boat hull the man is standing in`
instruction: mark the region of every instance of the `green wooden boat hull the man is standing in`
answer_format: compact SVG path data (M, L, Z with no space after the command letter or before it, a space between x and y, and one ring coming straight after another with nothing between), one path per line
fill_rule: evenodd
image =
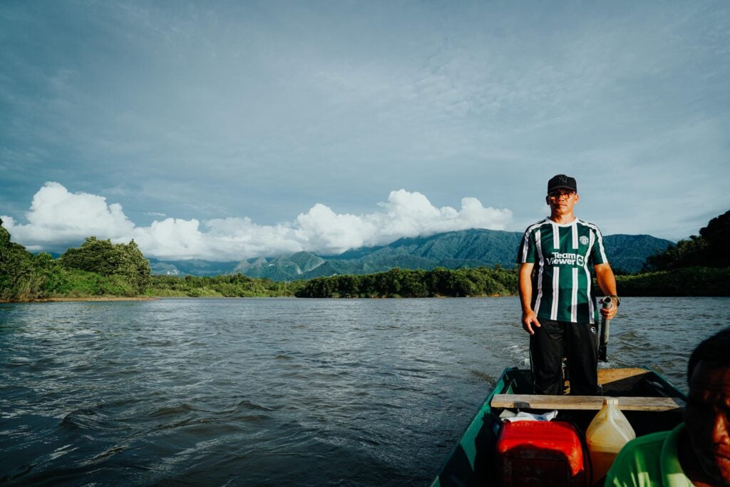
M604 396L619 397L620 409L637 436L672 429L682 421L686 396L650 369L599 369ZM600 409L602 396L536 396L531 372L505 369L464 434L439 469L432 487L496 486L497 434L505 410L545 413L558 410L582 431Z

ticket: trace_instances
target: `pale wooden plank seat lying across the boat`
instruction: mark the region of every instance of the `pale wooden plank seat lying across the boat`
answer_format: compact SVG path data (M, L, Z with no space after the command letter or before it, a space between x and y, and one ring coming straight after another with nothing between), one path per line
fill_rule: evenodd
M543 396L539 394L494 394L491 407L542 410L599 410L608 396ZM678 397L618 396L618 409L624 411L672 411L683 409Z

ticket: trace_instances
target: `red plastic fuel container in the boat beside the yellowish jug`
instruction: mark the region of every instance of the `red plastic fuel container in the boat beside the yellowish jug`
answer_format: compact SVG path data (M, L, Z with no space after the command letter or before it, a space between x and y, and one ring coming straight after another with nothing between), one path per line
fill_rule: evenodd
M504 487L587 485L580 437L570 423L505 422L496 455Z

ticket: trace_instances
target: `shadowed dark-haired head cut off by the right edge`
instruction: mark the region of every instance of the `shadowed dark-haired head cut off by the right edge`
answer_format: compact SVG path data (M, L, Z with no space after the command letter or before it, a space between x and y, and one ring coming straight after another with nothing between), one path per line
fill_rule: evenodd
M685 424L702 469L730 485L730 328L704 340L687 366Z

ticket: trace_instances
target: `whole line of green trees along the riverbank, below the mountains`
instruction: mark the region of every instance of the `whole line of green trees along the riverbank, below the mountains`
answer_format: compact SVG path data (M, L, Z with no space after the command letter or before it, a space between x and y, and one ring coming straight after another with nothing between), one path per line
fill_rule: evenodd
M730 211L713 218L699 236L680 240L647 259L641 272L618 275L622 296L730 296ZM335 275L288 282L245 275L153 276L132 240L112 244L88 237L60 258L33 254L11 241L0 221L0 301L99 297L435 297L514 296L517 270L391 269L367 275Z

